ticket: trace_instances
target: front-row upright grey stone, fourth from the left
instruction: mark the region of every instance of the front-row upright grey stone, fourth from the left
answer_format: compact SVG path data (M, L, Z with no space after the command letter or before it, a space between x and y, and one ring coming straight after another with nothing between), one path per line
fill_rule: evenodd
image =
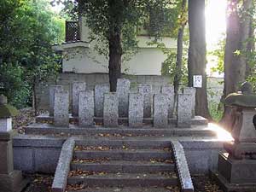
M129 126L143 126L143 95L140 93L129 95Z

